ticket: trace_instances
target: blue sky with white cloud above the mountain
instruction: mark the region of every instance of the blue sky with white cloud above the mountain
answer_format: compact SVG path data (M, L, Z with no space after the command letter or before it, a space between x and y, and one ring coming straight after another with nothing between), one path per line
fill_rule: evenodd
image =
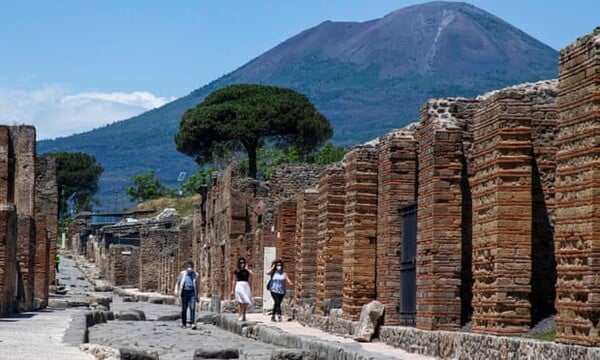
M0 123L38 139L160 106L326 20L367 21L402 0L57 0L0 5ZM600 25L597 0L480 0L560 50Z

